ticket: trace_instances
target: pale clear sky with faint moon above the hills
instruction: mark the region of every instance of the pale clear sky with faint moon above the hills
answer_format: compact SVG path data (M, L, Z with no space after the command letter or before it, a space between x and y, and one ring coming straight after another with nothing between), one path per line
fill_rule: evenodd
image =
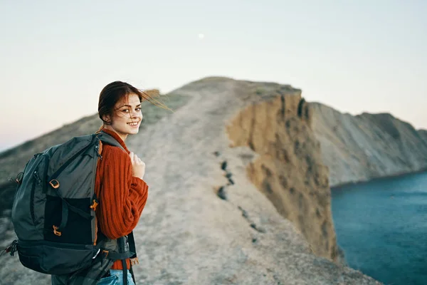
M116 80L271 81L427 128L426 15L423 0L0 0L0 150L95 114Z

